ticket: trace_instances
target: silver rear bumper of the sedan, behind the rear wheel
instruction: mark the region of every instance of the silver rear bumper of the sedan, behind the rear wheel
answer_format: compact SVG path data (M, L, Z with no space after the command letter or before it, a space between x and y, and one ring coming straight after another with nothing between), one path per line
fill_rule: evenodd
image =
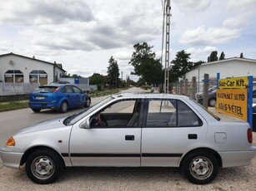
M251 146L248 151L218 152L223 162L223 168L233 166L245 166L251 164L256 155L256 147Z

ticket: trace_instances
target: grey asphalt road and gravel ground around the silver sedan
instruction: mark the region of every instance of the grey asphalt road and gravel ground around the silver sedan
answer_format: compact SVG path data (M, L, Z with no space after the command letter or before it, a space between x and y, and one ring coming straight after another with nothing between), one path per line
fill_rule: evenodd
M129 91L140 91L133 88ZM103 98L93 99L93 104ZM65 115L79 112L70 110ZM14 132L42 120L58 117L46 110L39 114L30 109L0 113L0 144ZM253 133L256 143L256 133ZM245 167L220 169L211 184L194 185L183 178L178 168L67 168L54 184L31 182L24 169L3 167L0 160L0 190L256 190L256 158Z

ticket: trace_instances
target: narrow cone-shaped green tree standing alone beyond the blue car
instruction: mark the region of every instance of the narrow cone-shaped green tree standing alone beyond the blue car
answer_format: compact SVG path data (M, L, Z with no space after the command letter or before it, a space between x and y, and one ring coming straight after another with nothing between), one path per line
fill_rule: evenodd
M108 85L110 88L118 88L118 81L120 76L118 61L115 61L113 56L111 56L108 63Z

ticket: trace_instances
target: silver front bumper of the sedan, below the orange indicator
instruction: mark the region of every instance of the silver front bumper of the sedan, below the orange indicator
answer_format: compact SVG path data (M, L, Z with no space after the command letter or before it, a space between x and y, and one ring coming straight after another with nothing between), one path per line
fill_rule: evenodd
M0 150L0 157L3 160L3 166L19 169L23 153Z

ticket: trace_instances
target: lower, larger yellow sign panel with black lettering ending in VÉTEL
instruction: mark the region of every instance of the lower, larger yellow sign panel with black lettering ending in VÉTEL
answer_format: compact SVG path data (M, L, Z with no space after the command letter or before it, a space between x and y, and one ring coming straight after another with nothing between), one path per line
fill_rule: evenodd
M247 89L218 90L216 111L247 121Z

